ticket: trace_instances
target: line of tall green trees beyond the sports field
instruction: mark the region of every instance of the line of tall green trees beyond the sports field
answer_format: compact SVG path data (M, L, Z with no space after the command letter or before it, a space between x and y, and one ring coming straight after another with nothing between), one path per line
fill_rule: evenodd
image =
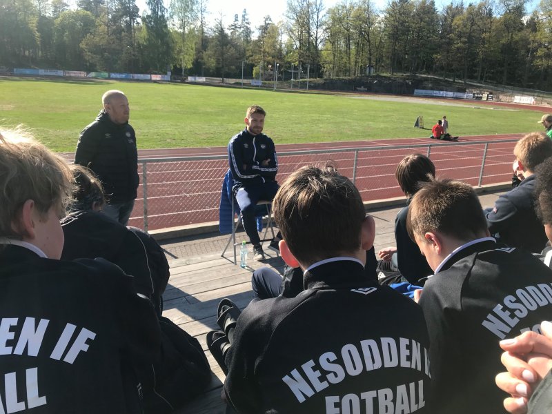
M247 10L207 23L208 0L0 0L0 66L289 79L424 73L549 89L552 0L288 0L284 21ZM284 71L285 70L285 71ZM293 75L293 74L292 74ZM297 77L297 75L295 75Z

